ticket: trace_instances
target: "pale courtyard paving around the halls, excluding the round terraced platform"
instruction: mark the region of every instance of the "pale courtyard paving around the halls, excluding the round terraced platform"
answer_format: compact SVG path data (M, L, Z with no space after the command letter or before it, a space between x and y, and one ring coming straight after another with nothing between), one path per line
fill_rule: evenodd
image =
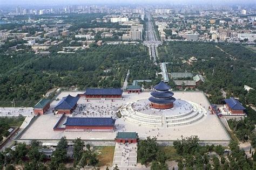
M76 96L83 92L63 92L57 96L59 100L68 94ZM117 118L115 113L118 108L125 103L137 101L143 98L150 97L150 92L140 94L123 93L123 99L120 100L85 100L80 98L78 105L82 108L76 110L75 117L109 117ZM192 101L201 105L205 110L208 110L210 103L201 92L183 92L174 91L174 97L180 100ZM147 136L157 137L158 140L177 140L183 137L192 135L198 136L200 140L230 140L227 132L223 128L216 115L207 114L200 121L189 125L181 125L169 128L154 128L152 126L139 125L129 122L124 118L117 118L116 130L114 132L68 132L68 131L53 131L53 126L59 120L59 116L52 114L52 108L59 101L53 101L48 113L44 116L39 116L28 130L24 132L21 139L60 139L66 136L67 139L75 139L80 137L84 140L113 140L118 131L137 132L140 139L145 139ZM87 112L88 111L88 112Z

